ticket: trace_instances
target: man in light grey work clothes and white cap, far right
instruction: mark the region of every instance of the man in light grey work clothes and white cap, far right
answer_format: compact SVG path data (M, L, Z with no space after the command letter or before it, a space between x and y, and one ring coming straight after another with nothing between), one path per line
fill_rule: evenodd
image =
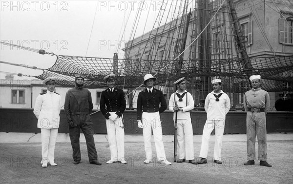
M252 75L249 80L252 89L244 94L244 108L246 114L247 136L247 162L244 165L254 165L255 160L255 136L258 141L259 164L272 167L267 163L267 122L266 115L270 109L270 95L261 89L260 75Z

